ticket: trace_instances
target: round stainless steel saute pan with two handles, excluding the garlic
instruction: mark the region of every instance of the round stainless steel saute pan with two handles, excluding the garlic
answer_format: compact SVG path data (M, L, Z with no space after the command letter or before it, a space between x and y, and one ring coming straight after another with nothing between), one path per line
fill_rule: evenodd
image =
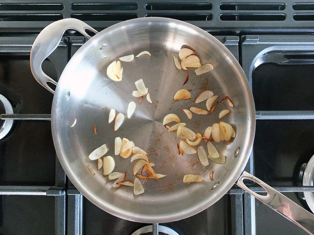
M66 29L75 29L90 38L86 30L96 35L88 40L68 62L58 83L41 69L41 63L57 47ZM185 71L173 63L182 46L197 51L202 63L212 63L214 70L195 76L184 87ZM115 82L106 76L106 68L124 55L148 50L151 56L141 56L132 62L122 62L122 81ZM213 205L234 185L255 196L258 200L279 212L307 232L314 232L314 216L287 197L244 172L250 157L255 134L255 107L247 78L234 56L223 44L196 26L168 18L138 18L113 25L97 32L77 19L63 19L48 25L36 38L30 66L35 79L54 93L51 110L51 129L58 158L69 179L77 189L103 210L137 222L170 222L192 216ZM108 123L111 108L126 114L132 96L134 81L142 78L149 88L153 104L142 101L137 104L131 119L126 118L121 128L113 131ZM53 91L47 82L57 85ZM195 132L203 133L206 127L218 123L218 113L227 108L224 103L207 116L193 115L187 120L180 108L195 106L192 100L173 101L179 89L191 89L196 97L210 89L214 94L232 98L235 107L222 121L236 129L236 138L217 143L217 149L226 156L226 163L213 162L206 167L198 162L197 154L178 155L179 139L166 131L162 120L166 114L179 115L182 122ZM201 105L201 104L200 104ZM199 107L199 106L198 106ZM77 123L70 128L74 118ZM185 120L186 119L186 120ZM97 135L93 126L97 127ZM162 135L161 133L165 131ZM144 183L145 192L133 195L131 187L118 190L112 181L96 171L90 174L87 165L96 167L88 155L102 144L107 144L108 155L114 156L114 138L120 136L132 140L136 146L148 151L158 173L167 175L160 180ZM127 171L127 179L134 180L130 159L114 157L114 171ZM214 181L209 172L214 171ZM184 184L185 174L202 174L205 182ZM267 192L261 196L243 183L244 179L257 182Z

